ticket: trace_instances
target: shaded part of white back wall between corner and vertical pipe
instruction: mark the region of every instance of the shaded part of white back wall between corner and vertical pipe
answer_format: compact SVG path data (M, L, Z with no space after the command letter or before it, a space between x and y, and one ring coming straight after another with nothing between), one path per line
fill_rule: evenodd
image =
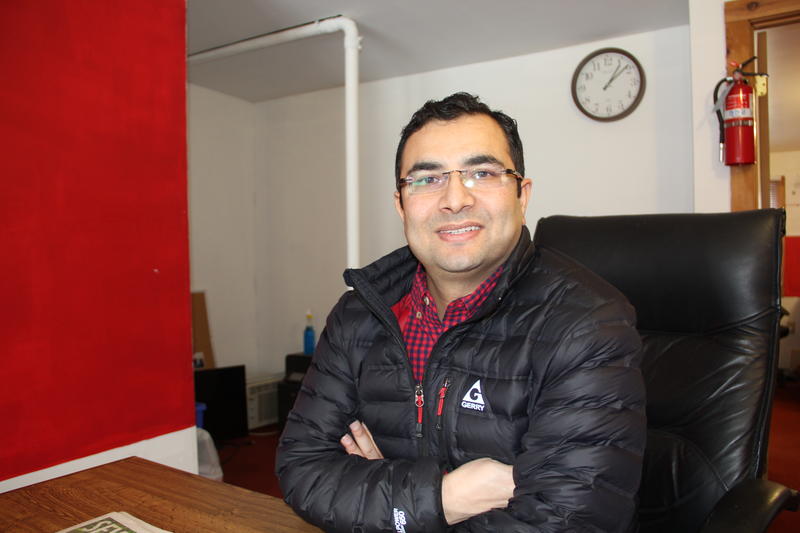
M319 336L345 289L343 100L337 89L256 106L261 373L283 371L284 355L303 350L308 309Z

